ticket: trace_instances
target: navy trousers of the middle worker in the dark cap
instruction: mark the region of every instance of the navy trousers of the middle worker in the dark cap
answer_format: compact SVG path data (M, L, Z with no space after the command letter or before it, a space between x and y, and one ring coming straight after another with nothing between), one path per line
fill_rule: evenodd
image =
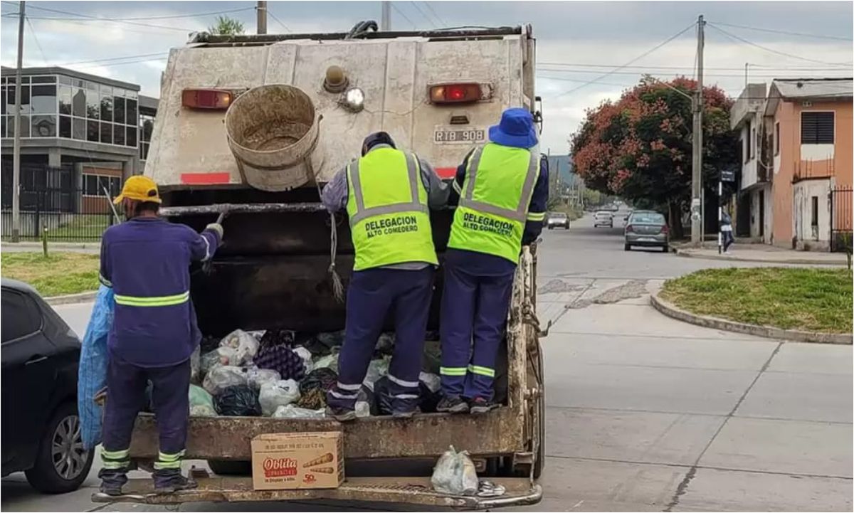
M395 350L389 364L391 405L395 411L411 411L418 405L418 374L433 273L432 266L417 271L354 271L347 290L347 325L338 356L338 382L326 394L328 405L354 409L389 313L395 318Z

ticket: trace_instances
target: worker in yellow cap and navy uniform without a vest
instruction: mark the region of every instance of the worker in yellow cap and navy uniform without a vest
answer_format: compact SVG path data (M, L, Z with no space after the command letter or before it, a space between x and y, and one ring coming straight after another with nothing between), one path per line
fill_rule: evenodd
M101 242L101 282L112 287L115 317L109 332L107 405L103 419L101 491L120 495L127 482L133 423L148 382L160 433L155 489L194 487L181 475L190 412L190 354L202 335L190 302L190 262L208 260L223 229L201 234L158 216L161 197L147 177L128 178L115 199L126 222L109 227Z

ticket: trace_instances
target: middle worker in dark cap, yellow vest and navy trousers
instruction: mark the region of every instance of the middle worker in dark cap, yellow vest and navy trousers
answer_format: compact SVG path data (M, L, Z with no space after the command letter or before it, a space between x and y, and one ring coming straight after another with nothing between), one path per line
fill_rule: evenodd
M392 415L412 417L418 411L418 374L438 265L430 207L447 203L447 187L433 168L396 149L388 133L366 137L361 154L322 194L330 212L347 211L355 250L338 382L326 395L327 413L341 422L356 418L356 398L389 313L396 335L389 365Z

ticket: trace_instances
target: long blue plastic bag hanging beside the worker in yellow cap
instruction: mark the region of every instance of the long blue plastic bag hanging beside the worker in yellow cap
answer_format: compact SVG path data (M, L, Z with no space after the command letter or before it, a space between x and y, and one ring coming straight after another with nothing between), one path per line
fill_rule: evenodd
M107 386L107 335L113 326L114 308L113 289L101 285L83 337L77 374L80 434L86 449L101 443L103 408L95 403L95 396Z

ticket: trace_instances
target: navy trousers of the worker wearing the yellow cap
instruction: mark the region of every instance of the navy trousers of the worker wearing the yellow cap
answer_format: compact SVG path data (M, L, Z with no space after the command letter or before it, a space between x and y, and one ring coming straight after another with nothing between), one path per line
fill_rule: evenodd
M103 420L104 467L126 469L131 447L133 423L145 406L145 388L154 385L157 431L160 435L160 458L155 468L180 468L180 458L187 442L190 417L190 360L170 367L139 367L109 356L107 364L107 405Z

